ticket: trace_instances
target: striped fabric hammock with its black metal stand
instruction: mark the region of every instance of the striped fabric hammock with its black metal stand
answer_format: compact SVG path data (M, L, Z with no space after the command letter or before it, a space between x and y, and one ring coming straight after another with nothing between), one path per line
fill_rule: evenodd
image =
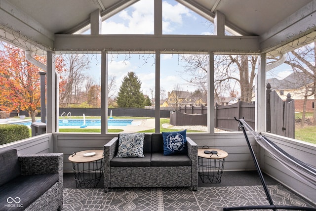
M236 118L235 118L236 119ZM237 120L237 119L236 119ZM260 206L245 206L245 207L233 207L233 208L223 208L223 211L235 211L235 210L259 210L259 209L285 209L285 210L303 210L303 211L316 211L316 208L307 208L307 207L298 207L298 206L279 206L274 205L266 182L263 178L261 169L259 167L257 158L253 152L252 146L249 142L248 136L246 134L245 128L255 137L257 143L267 150L271 155L276 158L282 165L284 165L287 169L290 169L293 173L298 175L304 181L309 184L316 185L316 168L312 165L306 164L297 158L289 155L280 147L278 147L275 143L269 140L267 137L256 133L243 119L237 120L239 122L239 127L242 129L243 134L246 138L250 154L256 166L257 172L259 174L261 183L267 195L267 199L270 205L260 205Z

